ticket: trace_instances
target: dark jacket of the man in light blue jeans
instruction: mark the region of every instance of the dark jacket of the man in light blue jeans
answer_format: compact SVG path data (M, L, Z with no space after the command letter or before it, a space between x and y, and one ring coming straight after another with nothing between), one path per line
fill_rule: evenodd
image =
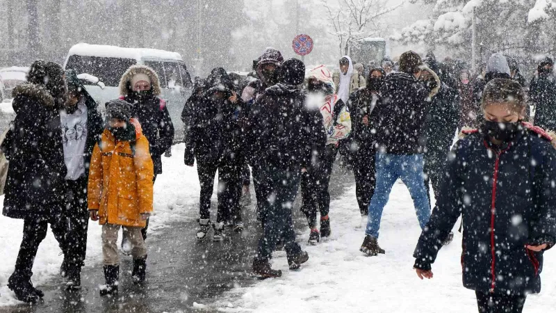
M411 74L398 72L386 77L380 88L382 101L375 107L380 150L399 155L423 152L428 94Z

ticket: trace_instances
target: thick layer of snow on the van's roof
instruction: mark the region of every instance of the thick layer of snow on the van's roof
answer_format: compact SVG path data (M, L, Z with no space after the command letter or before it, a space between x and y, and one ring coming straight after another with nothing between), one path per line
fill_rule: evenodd
M143 58L161 58L165 60L183 61L177 52L158 49L122 48L106 45L88 45L80 43L70 48L68 56L100 56L104 58L131 58L141 60Z

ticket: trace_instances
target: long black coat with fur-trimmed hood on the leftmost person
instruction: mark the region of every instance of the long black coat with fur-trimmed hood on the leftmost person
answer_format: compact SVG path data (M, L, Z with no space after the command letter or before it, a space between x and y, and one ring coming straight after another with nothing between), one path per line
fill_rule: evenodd
M61 214L67 173L58 106L46 89L30 83L17 86L13 95L16 116L1 145L10 161L2 213L49 219Z

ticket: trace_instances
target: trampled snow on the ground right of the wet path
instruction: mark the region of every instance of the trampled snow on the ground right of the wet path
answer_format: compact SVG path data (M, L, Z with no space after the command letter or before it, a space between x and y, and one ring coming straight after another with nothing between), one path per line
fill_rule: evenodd
M359 225L355 188L332 202L332 238L307 246L309 231L297 241L309 252L300 271L289 271L284 252L275 252L273 267L283 276L232 289L215 309L220 312L477 312L475 293L461 284L461 234L444 247L432 266L434 278L418 279L412 269L420 227L407 188L398 181L384 209L379 243L386 255L359 252L364 228ZM556 255L546 253L543 291L529 296L523 312L553 312L556 306Z

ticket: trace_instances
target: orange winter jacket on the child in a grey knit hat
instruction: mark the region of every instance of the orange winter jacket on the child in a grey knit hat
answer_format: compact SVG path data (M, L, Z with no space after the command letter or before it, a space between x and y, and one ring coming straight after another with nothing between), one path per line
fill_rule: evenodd
M153 211L153 163L149 142L136 120L135 152L130 141L116 142L104 129L101 144L92 151L88 208L99 210L99 223L145 227L140 214Z

